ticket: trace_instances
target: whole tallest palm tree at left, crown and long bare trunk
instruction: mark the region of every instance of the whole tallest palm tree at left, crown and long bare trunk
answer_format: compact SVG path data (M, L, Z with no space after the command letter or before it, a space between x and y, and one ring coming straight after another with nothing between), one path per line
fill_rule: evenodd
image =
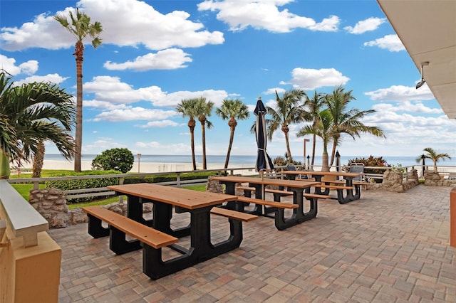
M76 14L70 11L70 20L63 14L56 14L54 19L61 23L73 36L76 37L76 150L74 159L74 171L81 171L81 150L83 144L83 40L87 36L93 38L92 46L97 48L101 45L100 33L103 31L101 23L95 21L90 23L90 17L76 9Z

